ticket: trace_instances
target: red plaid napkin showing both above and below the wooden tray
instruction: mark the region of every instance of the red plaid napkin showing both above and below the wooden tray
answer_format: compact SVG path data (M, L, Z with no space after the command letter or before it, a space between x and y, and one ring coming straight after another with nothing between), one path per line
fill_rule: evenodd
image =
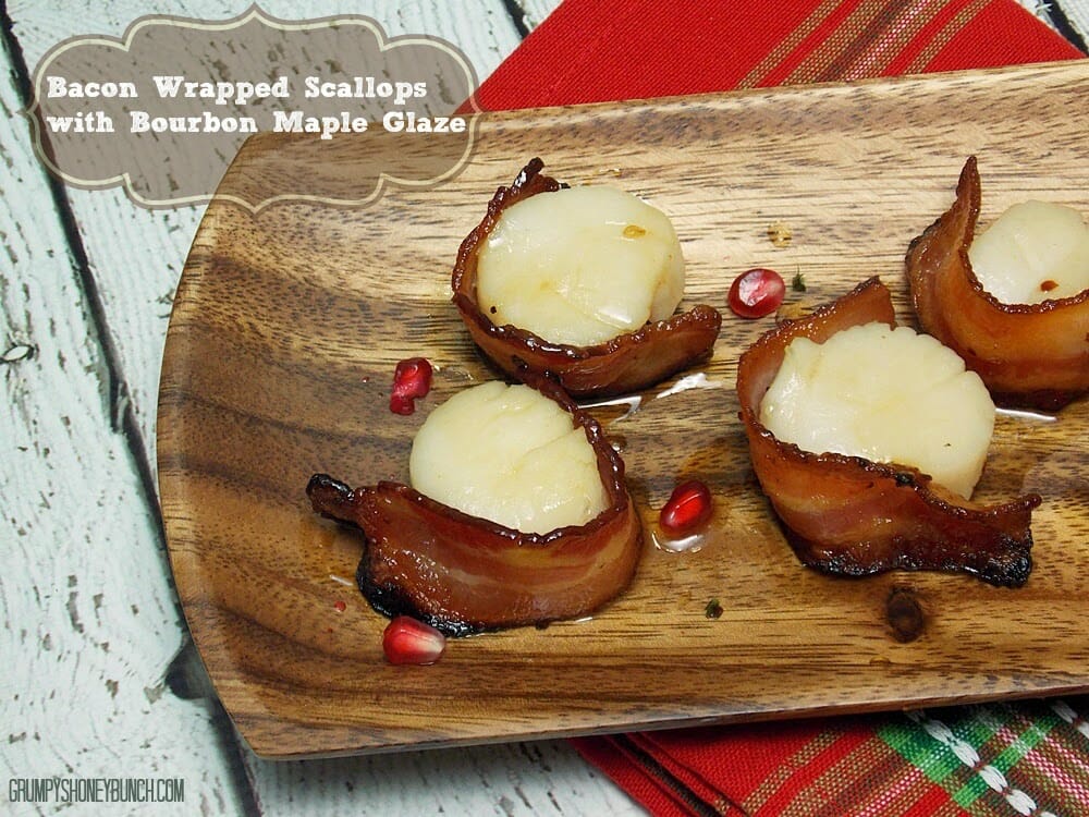
M486 110L1084 57L1013 0L566 0ZM573 743L654 815L1089 816L1089 698Z

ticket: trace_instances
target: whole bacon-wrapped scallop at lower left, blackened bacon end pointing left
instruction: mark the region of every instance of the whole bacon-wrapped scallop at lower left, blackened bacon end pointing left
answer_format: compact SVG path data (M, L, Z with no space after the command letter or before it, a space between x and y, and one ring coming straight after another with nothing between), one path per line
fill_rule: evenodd
M562 389L529 380L435 408L413 487L310 479L315 511L362 528L356 578L379 612L464 635L578 618L631 581L643 528L623 462Z

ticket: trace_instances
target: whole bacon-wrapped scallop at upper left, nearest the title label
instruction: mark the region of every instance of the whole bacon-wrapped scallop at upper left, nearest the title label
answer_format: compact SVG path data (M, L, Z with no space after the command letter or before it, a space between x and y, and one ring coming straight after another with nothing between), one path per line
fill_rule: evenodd
M567 187L531 160L457 252L453 301L503 371L575 397L652 386L708 355L722 317L674 315L684 261L664 214L611 187Z

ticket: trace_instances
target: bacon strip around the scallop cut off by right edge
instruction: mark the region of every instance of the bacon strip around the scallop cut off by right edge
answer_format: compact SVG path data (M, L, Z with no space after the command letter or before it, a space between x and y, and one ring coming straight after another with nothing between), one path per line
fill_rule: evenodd
M953 206L908 248L915 312L995 402L1060 408L1089 391L1089 290L1039 304L1004 304L984 291L968 259L980 197L969 157Z

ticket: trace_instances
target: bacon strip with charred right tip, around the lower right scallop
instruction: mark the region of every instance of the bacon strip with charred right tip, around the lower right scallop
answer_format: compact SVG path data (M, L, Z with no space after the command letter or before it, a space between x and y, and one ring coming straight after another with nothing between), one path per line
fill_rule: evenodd
M809 453L761 425L760 401L794 338L822 343L871 321L895 324L889 290L877 278L769 331L742 355L737 394L752 466L787 540L803 563L828 573L960 571L995 585L1024 584L1032 565L1029 522L1040 497L980 505L917 468Z

